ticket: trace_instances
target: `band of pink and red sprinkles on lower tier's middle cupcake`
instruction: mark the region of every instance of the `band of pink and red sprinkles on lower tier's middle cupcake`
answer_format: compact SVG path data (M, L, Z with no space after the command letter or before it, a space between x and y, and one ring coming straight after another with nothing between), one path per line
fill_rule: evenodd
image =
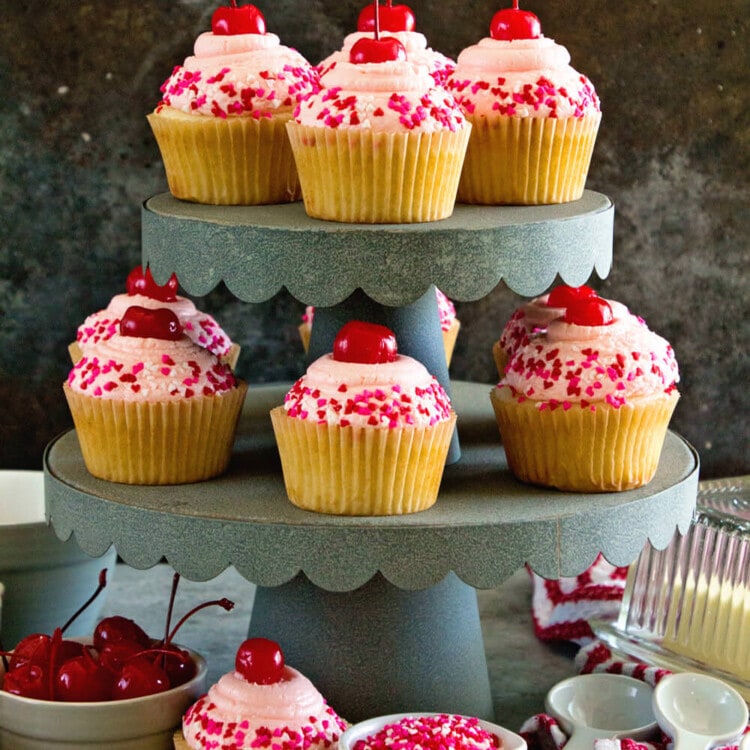
M416 424L432 426L451 415L450 399L435 378L425 388L416 387L413 395L404 393L398 384L350 391L341 383L338 392L340 398L326 398L319 389L310 388L304 377L300 378L285 396L287 415L317 424L350 427L356 423L390 429Z

